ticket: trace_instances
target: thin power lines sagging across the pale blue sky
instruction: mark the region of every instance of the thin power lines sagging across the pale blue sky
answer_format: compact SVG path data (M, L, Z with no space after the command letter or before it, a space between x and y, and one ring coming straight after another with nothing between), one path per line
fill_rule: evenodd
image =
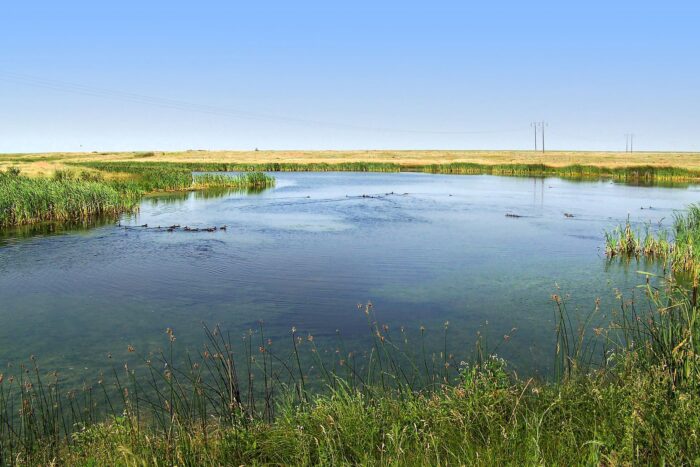
M69 92L92 97L100 97L107 99L115 99L124 102L132 102L135 104L152 105L156 107L181 110L185 112L199 112L210 115L218 115L223 117L257 119L257 120L273 120L292 124L336 127L347 130L356 131L372 131L372 132L387 132L387 133L410 133L410 134L434 134L434 135L476 135L476 134L498 134L498 133L515 133L525 131L524 128L499 129L499 130L465 130L465 131L442 131L442 130L423 130L423 129L405 129L405 128L390 128L390 127L375 127L347 124L341 122L330 122L321 120L304 119L298 117L289 117L284 115L272 115L257 112L249 112L230 107L212 106L206 104L197 104L177 99L168 99L162 97L148 96L144 94L136 94L106 88L98 88L83 84L70 83L66 81L49 80L31 75L20 73L7 72L0 70L0 80L11 82L20 85L51 89L55 91Z

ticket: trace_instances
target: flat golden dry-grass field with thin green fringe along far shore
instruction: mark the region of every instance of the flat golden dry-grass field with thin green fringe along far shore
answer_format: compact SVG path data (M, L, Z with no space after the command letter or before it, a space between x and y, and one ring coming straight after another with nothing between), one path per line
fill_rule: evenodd
M525 176L700 179L700 153L604 151L204 151L0 154L0 169L18 166L50 176L69 165L120 163L206 167L206 170L346 170Z

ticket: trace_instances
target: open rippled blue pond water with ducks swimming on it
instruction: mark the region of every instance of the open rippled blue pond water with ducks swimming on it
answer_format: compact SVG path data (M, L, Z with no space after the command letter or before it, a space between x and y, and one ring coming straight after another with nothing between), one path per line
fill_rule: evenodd
M552 293L570 294L575 313L601 297L605 311L613 288L631 293L643 281L636 271L644 265L606 264L603 231L628 214L668 225L674 209L700 198L695 187L607 181L275 176L276 188L255 195L147 199L121 220L129 228L0 240L0 364L34 354L44 367L94 374L127 344L159 347L166 327L178 344L196 347L202 322L241 335L263 320L277 340L296 326L322 344L340 329L362 346L367 327L357 304L370 300L380 321L411 331L425 325L434 342L449 321L458 350L477 331L492 347L512 334L498 353L523 371L544 371Z

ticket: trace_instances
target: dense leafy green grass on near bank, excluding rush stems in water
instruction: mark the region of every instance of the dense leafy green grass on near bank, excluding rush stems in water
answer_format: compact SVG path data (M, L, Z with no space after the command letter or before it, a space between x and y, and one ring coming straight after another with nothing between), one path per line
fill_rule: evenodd
M669 398L649 373L561 387L485 373L431 395L339 389L288 404L272 423L134 428L89 425L27 463L67 465L687 465L697 461L697 397ZM536 395L533 395L536 394ZM207 426L208 425L208 426Z

